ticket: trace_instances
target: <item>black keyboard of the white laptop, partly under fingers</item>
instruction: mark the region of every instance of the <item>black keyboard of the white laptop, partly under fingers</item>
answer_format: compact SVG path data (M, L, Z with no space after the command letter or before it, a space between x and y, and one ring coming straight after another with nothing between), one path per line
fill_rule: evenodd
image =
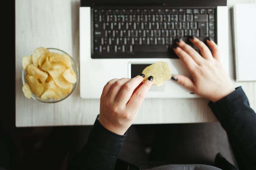
M215 8L93 9L92 58L177 58L177 37L215 40ZM198 51L198 49L196 49Z

